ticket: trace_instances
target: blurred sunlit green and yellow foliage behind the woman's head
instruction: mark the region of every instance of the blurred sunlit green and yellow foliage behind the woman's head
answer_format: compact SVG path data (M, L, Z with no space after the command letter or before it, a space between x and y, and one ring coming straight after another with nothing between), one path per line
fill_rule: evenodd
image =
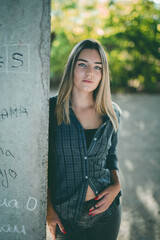
M160 92L159 16L149 0L53 1L51 83L60 81L73 46L94 38L108 56L112 90Z

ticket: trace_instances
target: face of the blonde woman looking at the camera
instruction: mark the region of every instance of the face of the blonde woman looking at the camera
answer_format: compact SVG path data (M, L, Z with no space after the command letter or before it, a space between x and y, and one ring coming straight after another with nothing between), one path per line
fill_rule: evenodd
M81 51L74 68L73 89L93 92L102 78L102 61L95 49Z

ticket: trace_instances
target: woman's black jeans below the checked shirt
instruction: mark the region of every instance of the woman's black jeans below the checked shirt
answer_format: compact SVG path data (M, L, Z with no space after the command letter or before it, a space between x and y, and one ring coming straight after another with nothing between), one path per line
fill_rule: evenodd
M121 222L119 198L116 198L105 212L89 216L89 209L96 203L94 199L84 203L74 233L63 234L57 227L56 240L116 240Z

